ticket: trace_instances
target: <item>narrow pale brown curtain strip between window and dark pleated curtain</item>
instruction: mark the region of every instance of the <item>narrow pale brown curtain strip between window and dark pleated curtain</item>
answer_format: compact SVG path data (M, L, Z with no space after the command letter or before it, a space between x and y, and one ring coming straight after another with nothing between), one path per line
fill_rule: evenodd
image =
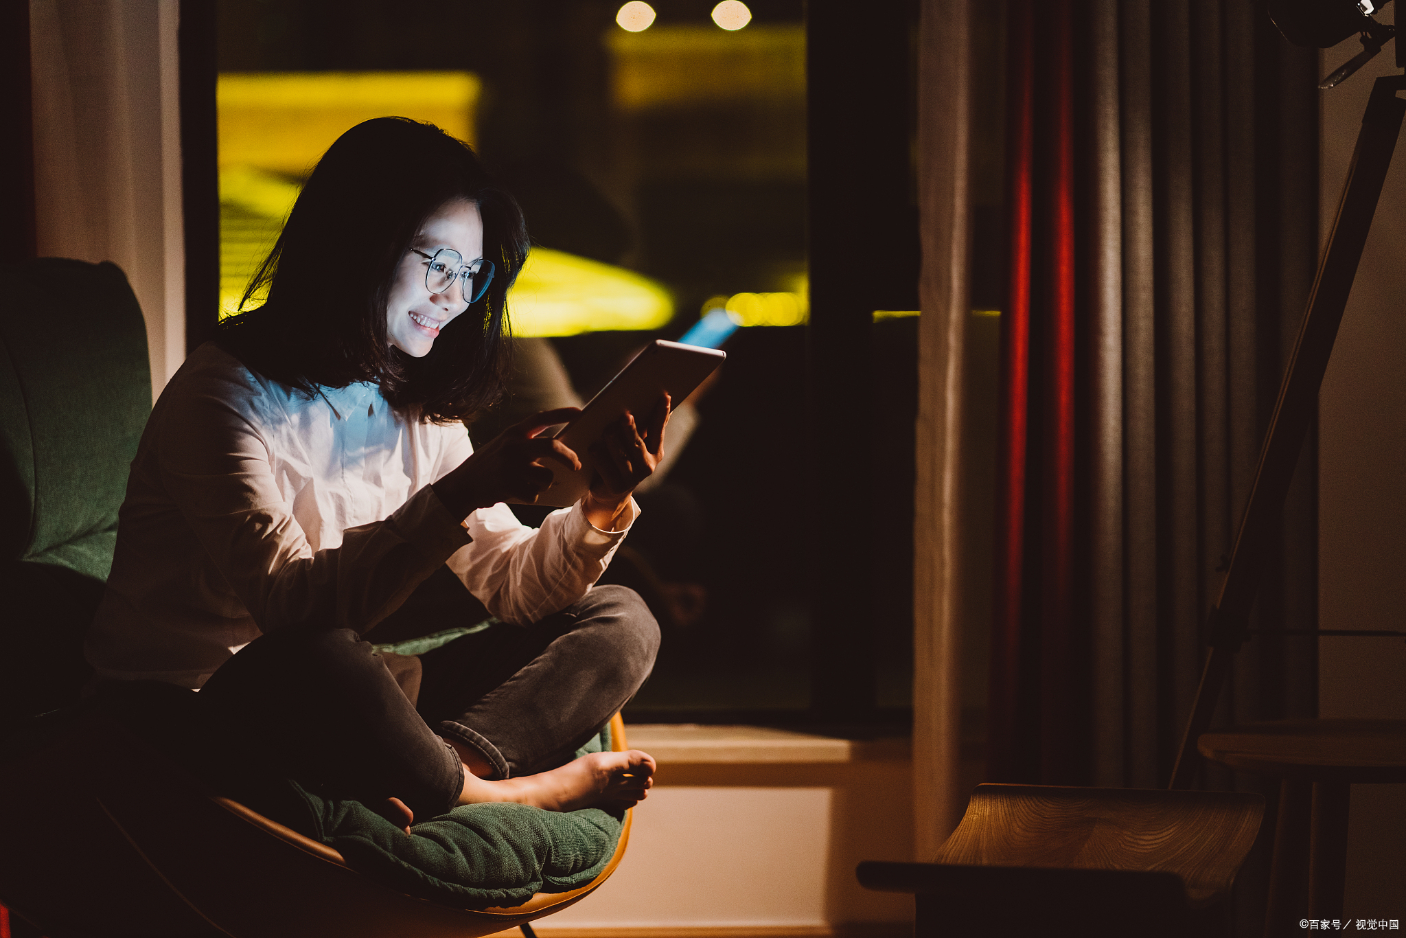
M970 308L970 0L925 0L918 23L918 420L914 491L914 851L929 859L966 807L962 633L970 617L963 499Z

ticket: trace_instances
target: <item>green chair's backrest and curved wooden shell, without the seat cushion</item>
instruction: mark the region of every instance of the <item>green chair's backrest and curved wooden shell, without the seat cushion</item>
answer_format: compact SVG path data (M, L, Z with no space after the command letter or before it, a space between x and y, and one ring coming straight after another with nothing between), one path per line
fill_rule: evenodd
M325 844L204 792L121 720L73 705L83 633L150 412L146 332L122 271L41 259L0 269L0 906L48 938L477 938L595 890L451 908L352 869ZM612 745L626 748L619 714Z

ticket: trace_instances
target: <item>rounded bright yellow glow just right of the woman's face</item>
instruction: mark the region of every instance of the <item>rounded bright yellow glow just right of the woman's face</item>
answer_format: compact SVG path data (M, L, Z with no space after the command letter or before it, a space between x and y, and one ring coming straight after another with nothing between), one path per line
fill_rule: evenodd
M658 329L673 318L673 298L633 270L533 248L508 294L508 315L515 336Z

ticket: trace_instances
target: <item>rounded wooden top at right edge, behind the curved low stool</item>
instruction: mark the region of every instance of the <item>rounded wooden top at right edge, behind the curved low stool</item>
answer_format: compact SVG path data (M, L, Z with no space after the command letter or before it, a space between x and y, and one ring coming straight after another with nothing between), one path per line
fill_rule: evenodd
M1406 782L1406 720L1268 720L1206 733L1197 748L1239 772L1308 782Z

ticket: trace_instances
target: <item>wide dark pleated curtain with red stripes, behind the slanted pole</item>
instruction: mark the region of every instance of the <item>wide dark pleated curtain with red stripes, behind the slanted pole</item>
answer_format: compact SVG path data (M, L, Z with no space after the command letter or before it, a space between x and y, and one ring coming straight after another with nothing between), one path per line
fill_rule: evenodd
M1316 266L1316 68L1254 0L1008 4L990 780L1170 778ZM1310 439L1258 627L1316 622L1316 537ZM1222 721L1315 675L1256 638Z

